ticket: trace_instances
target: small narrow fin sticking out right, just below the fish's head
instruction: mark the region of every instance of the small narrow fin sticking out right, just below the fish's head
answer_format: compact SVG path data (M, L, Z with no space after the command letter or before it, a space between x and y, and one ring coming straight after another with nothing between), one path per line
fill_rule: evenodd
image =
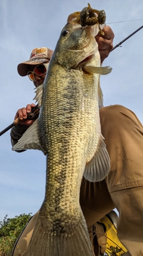
M82 67L83 72L89 73L89 74L100 74L100 75L107 75L111 73L112 68L109 66L106 67L93 67L93 66L83 66Z

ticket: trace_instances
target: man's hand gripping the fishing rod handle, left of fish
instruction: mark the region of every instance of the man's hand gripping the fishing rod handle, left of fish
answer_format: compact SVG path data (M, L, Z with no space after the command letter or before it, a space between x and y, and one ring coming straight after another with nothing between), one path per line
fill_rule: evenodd
M30 127L30 125L32 125L35 120L27 119L27 113L30 113L33 107L35 107L35 104L32 103L32 104L27 104L26 107L22 107L21 109L18 109L14 119L19 118L20 120L23 120L23 122L21 122L20 125L27 125Z

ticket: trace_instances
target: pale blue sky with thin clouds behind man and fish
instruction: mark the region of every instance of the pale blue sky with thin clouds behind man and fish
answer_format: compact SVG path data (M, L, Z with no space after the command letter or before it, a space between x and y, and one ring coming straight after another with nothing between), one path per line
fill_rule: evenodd
M141 0L91 0L89 3L92 8L105 10L106 23L115 34L114 46L142 26ZM13 122L17 109L35 103L33 83L18 75L17 65L27 61L36 47L54 50L67 16L87 4L85 0L30 0L28 4L25 0L1 0L0 131ZM110 65L113 71L101 77L101 88L104 106L128 107L143 123L142 34L143 29L110 53L104 65ZM21 213L34 214L45 194L45 156L38 150L13 152L9 131L0 137L0 143L0 221L6 214L9 218Z

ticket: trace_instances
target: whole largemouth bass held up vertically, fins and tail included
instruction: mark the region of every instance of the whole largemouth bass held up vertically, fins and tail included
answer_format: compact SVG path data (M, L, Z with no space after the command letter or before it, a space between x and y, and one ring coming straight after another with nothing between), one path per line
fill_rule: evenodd
M70 21L61 31L45 82L39 118L17 149L46 155L45 199L27 256L93 256L79 204L83 175L91 182L107 176L110 159L101 134L98 90L100 67L95 35L98 25Z

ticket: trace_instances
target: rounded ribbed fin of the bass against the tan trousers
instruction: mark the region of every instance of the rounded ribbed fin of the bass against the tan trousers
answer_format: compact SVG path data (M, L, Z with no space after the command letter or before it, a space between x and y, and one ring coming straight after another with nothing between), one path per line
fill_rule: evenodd
M110 171L110 157L108 155L104 138L101 135L98 149L91 159L86 164L84 177L90 182L99 182L103 180Z

